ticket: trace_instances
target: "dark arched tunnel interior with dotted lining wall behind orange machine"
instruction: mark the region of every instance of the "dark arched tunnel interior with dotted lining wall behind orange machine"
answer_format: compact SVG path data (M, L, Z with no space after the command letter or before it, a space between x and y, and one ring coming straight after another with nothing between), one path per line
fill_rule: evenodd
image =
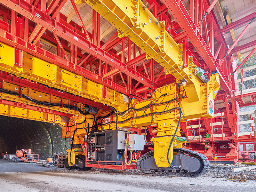
M61 137L59 125L0 116L0 152L15 154L21 148L31 148L41 154L40 159L52 157L54 153L65 154L65 139ZM66 140L69 147L70 140Z

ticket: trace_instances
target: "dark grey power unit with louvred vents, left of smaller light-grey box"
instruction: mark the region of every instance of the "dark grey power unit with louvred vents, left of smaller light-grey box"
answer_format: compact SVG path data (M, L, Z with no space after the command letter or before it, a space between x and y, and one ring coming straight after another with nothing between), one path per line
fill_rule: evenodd
M88 159L93 161L108 161L108 164L124 164L124 149L127 132L111 130L93 133L88 151ZM128 156L130 152L128 151ZM114 161L113 163L111 163ZM117 161L117 162L116 162Z

